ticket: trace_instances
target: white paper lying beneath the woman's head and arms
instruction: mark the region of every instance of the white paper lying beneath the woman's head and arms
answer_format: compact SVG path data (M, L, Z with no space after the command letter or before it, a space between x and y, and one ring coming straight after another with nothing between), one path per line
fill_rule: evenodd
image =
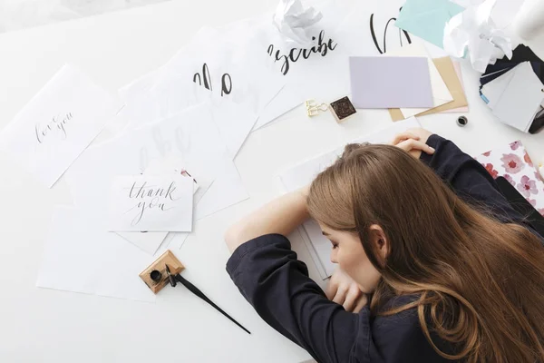
M371 133L360 139L355 140L356 143L370 142L370 143L386 143L391 142L397 133L404 132L407 129L413 127L420 127L417 120L412 117L398 123L391 123L391 125L382 131ZM328 166L333 164L335 160L342 155L344 148L338 148L332 152L326 152L323 155L316 157L307 162L302 162L295 167L280 174L279 178L283 183L286 191L296 191L305 185L311 183L319 172L323 172ZM306 221L303 224L303 228L306 231L308 239L311 241L313 256L317 256L315 259L316 265L319 265L318 270L325 270L325 276L329 277L334 269L334 264L330 261L331 242L325 238L319 229L319 225L316 221Z

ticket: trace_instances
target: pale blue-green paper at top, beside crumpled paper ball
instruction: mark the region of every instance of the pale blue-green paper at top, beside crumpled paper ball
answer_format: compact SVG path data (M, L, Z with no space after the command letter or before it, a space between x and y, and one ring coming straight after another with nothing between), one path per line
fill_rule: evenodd
M446 23L463 10L449 0L407 0L394 25L443 48Z

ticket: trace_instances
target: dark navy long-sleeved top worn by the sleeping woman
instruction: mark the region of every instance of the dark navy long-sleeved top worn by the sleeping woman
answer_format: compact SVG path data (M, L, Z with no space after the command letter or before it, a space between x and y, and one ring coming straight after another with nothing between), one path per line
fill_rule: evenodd
M479 162L438 135L432 135L427 144L435 152L423 153L422 162L461 198L485 203L502 221L522 223ZM296 260L285 236L271 234L244 243L228 260L227 270L261 318L320 363L451 362L439 356L423 336L415 309L383 317L365 307L354 314L327 299L308 277L305 263ZM404 305L411 300L396 297L388 304ZM436 343L441 346L440 341Z

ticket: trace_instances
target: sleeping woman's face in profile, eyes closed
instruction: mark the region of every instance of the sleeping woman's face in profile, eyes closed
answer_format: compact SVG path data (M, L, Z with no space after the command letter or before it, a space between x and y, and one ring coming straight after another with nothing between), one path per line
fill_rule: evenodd
M374 292L381 278L366 253L363 243L355 233L335 231L319 223L323 235L333 244L331 261L337 263L359 285L364 293Z

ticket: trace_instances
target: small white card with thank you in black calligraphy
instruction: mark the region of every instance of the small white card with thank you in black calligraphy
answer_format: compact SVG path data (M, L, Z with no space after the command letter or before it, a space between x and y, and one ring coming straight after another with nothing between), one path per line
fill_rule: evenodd
M171 173L116 177L109 231L191 231L193 184L191 178Z

